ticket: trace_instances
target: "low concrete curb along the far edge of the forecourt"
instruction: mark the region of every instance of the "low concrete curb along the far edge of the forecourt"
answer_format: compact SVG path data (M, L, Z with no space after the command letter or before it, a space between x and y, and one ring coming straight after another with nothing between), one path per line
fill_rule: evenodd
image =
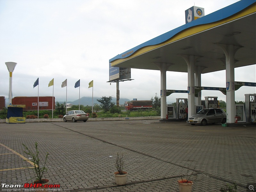
M161 116L150 117L101 117L101 118L89 118L87 121L127 121L127 120L153 120L160 119ZM5 119L0 119L0 124L5 123ZM63 119L26 119L26 123L38 123L38 122L63 122Z

